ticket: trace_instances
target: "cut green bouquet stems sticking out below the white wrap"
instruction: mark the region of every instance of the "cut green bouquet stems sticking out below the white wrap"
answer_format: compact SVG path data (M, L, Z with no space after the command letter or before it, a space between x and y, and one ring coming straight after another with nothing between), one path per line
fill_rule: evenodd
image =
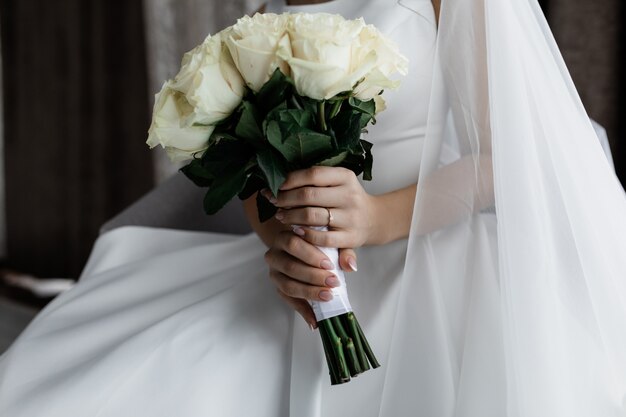
M354 313L321 320L318 328L332 385L380 366Z

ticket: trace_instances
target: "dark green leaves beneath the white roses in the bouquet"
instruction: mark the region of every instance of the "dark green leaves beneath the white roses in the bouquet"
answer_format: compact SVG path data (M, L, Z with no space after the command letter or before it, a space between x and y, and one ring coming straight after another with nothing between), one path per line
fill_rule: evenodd
M293 81L280 70L254 93L247 93L230 117L217 124L209 146L181 171L200 187L207 214L232 198L245 200L263 188L274 195L291 171L313 165L344 167L372 179L372 144L361 139L375 122L374 100L348 94L314 100L296 93ZM257 194L259 220L276 207Z

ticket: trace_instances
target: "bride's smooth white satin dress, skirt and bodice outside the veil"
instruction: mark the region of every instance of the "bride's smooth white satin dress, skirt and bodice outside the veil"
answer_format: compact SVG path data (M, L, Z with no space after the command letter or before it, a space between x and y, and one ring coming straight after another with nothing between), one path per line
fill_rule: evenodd
M430 2L416 4L419 14L381 0L326 4L363 15L410 60L368 134L374 180L363 185L374 194L418 178L436 25ZM378 415L406 247L358 249L350 300L383 368L331 388L319 335L276 295L255 235L110 231L76 287L1 357L0 415Z

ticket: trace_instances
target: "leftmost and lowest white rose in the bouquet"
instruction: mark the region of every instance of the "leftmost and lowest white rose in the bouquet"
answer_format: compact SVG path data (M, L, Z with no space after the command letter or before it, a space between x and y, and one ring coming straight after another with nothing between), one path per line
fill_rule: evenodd
M214 127L189 123L193 115L194 109L184 94L166 82L155 96L147 141L150 148L161 145L175 162L201 154L208 146Z

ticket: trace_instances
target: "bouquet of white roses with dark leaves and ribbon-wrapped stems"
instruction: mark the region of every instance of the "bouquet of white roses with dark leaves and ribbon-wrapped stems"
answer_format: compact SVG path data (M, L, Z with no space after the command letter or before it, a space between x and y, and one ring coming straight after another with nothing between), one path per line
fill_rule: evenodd
M185 54L157 94L148 144L161 145L198 186L208 214L256 193L259 219L276 207L289 172L341 166L371 179L372 144L361 134L384 109L406 59L375 27L338 15L257 14ZM337 259L337 249L320 248ZM378 362L352 313L345 278L330 302L312 302L332 384Z

